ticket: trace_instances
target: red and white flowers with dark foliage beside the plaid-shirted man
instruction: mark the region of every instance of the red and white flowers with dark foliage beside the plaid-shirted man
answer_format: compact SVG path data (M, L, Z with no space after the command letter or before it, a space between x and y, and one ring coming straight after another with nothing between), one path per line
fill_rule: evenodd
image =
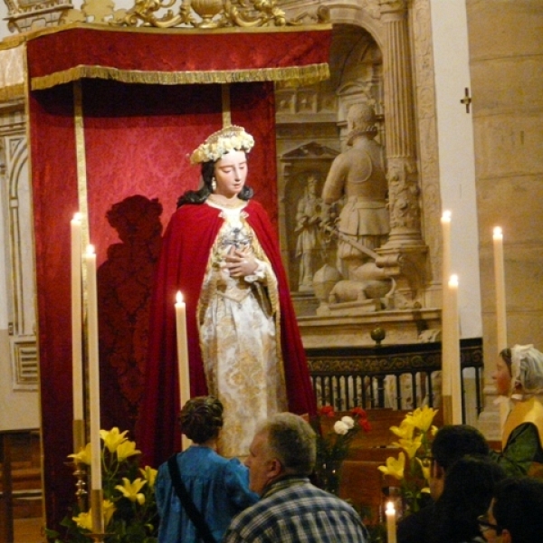
M322 416L335 418L336 412L331 405L324 405L319 409L319 417ZM360 429L364 432L371 430L367 413L361 407L355 407L350 416L336 421L328 433L323 434L321 424L318 424L315 475L317 483L324 490L338 493L341 464L348 457L351 443Z

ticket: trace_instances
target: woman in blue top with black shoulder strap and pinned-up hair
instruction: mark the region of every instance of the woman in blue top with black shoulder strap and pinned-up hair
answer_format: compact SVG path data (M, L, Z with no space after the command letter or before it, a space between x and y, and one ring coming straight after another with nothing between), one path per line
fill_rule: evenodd
M213 396L188 400L179 414L179 425L193 444L158 469L158 542L221 541L233 517L255 503L258 495L249 490L248 469L239 460L227 460L216 452L223 427L223 405L219 400ZM179 496L178 484L188 498L183 491ZM187 508L191 507L197 512L189 513Z

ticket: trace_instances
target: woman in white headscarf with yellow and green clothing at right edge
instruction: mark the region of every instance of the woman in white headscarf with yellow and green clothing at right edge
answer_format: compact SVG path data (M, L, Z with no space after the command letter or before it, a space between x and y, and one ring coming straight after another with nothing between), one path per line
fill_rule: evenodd
M500 352L492 378L498 394L510 398L497 460L510 475L543 471L543 353L533 345Z

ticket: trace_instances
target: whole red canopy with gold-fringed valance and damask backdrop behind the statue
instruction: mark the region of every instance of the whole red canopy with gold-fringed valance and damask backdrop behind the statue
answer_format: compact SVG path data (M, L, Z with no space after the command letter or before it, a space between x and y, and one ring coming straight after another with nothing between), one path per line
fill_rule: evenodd
M248 183L276 224L275 107L273 85L265 81L302 81L326 62L328 53L329 30L180 33L75 26L28 37L50 528L58 528L69 513L75 490L65 462L72 452L70 220L79 211L78 175L86 174L90 243L99 263L101 425L118 425L133 439L145 386L160 233L177 197L198 186L199 170L189 165L187 155L223 123L220 84L202 83L212 82L214 75L224 81L227 76L230 81L264 81L233 83L230 109L232 122L255 138ZM202 79L194 78L195 73ZM84 167L76 147L73 88L62 84L80 79ZM189 80L198 84L180 84Z

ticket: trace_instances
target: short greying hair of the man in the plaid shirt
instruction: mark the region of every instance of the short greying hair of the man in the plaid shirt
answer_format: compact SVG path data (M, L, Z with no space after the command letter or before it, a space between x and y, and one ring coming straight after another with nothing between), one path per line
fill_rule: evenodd
M271 452L281 462L285 472L309 476L315 467L316 434L299 415L279 413L263 426L268 433Z

